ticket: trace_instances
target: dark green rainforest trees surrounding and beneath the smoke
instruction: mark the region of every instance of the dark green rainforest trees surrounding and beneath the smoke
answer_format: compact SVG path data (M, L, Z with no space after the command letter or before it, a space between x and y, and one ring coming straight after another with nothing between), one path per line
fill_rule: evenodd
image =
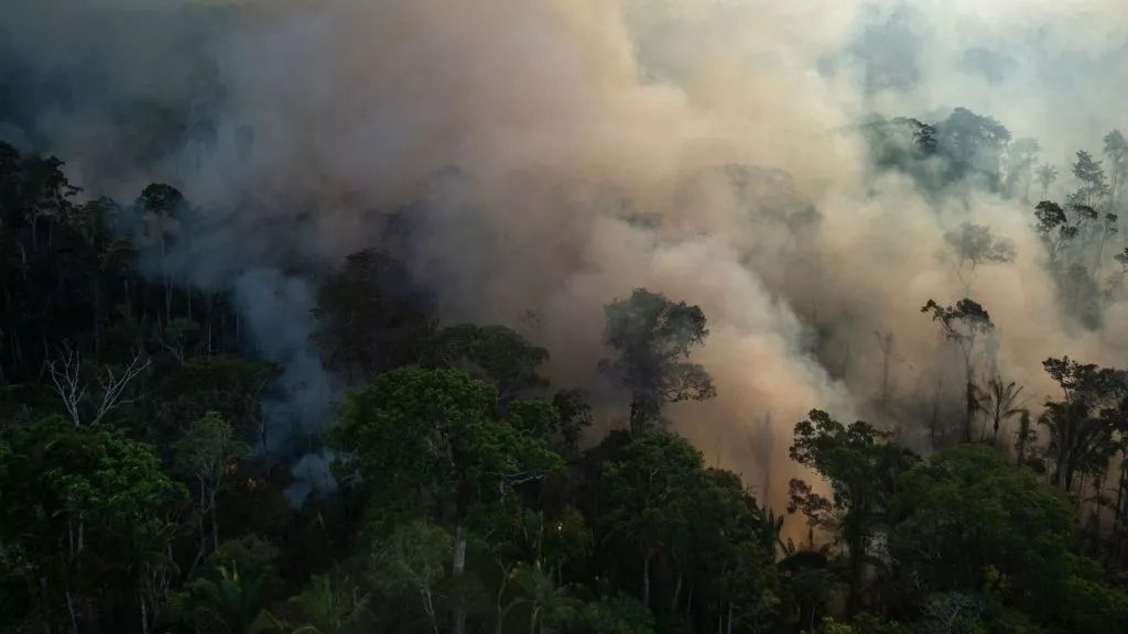
M1055 178L968 111L866 130L878 164L929 187L1026 199ZM1128 143L1105 152L1078 153L1065 204L1030 205L1079 324L1128 270L1125 252L1100 271ZM922 457L814 410L790 456L818 479L791 481L783 516L663 424L716 391L691 360L696 306L642 289L607 306L592 372L623 389L629 431L594 438L584 394L544 376L550 351L440 324L399 262L361 252L314 311L351 389L324 433L277 439L261 403L280 369L232 298L139 273L191 239L191 203L77 194L58 160L0 143L0 631L1128 631L1125 373L1050 358L1060 395L1031 410L981 376L985 303L923 308L961 353L955 438ZM986 227L948 241L968 291L1015 256ZM289 466L321 449L335 490L292 503Z

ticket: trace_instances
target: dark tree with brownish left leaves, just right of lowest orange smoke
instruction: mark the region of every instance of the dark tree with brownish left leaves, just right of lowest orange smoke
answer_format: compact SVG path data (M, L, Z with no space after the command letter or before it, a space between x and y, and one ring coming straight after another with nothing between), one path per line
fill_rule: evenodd
M847 611L862 605L862 583L870 546L884 520L897 475L915 457L887 442L889 434L857 421L843 425L826 412L812 410L795 424L788 449L792 460L829 482L832 500L816 493L805 482L790 485L787 511L802 511L812 527L831 531L846 549Z

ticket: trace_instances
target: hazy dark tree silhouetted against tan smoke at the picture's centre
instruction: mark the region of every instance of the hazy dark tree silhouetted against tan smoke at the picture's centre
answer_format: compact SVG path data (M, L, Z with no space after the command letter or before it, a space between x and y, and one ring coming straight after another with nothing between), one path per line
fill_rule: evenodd
M654 426L663 403L716 396L708 372L686 361L690 349L708 336L700 308L636 289L629 299L609 303L605 314L603 343L619 355L603 359L599 369L631 390L632 432Z

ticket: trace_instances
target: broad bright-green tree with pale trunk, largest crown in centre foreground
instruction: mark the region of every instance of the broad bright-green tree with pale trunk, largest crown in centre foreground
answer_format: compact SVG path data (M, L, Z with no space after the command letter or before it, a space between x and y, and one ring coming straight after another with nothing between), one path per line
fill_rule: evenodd
M343 452L337 470L354 472L386 518L423 509L453 534L455 583L470 511L502 504L515 486L561 466L536 433L495 420L496 404L493 386L464 372L405 367L351 391L329 433ZM452 604L451 627L461 633L465 607Z

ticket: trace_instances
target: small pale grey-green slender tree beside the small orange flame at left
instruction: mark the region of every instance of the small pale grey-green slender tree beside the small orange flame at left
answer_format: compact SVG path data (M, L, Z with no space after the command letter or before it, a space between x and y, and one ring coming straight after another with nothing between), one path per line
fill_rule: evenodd
M197 491L199 563L209 548L219 548L217 494L236 460L250 455L250 447L236 440L231 424L215 412L192 422L187 433L173 446L177 467L193 478Z

